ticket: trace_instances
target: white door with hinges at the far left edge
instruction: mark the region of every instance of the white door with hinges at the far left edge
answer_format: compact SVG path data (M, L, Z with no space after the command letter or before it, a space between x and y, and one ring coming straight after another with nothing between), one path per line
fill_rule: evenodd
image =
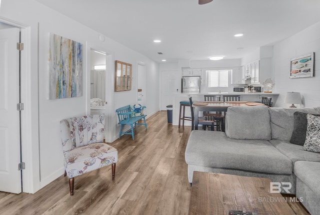
M19 28L0 30L0 191L21 193Z

